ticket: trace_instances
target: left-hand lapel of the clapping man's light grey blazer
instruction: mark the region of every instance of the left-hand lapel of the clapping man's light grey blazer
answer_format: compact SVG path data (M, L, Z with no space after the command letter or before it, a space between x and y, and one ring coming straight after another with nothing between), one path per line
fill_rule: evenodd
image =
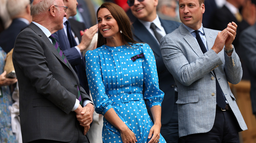
M184 35L184 39L189 44L191 49L197 54L197 56L198 57L203 56L203 52L198 42L195 40L192 34L184 27L183 24L181 24L181 26L179 27L179 30L181 31L181 34Z

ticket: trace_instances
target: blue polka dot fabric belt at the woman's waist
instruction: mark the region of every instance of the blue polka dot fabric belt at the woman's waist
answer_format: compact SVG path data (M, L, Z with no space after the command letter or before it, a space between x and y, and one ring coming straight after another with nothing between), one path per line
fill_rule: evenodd
M126 103L126 102L129 102L129 101L143 100L143 95L139 94L139 93L138 94L124 93L124 94L120 94L120 95L117 95L117 96L110 96L108 98L112 102Z

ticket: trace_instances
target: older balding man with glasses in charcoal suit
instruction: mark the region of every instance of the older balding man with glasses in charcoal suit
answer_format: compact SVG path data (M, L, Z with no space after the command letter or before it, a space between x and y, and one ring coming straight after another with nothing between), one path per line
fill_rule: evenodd
M94 105L51 37L66 10L63 0L34 0L32 23L14 44L23 143L89 142Z

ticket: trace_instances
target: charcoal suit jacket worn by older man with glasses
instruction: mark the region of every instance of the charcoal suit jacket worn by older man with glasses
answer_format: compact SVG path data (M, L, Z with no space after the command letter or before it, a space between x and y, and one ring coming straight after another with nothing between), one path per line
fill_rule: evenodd
M23 143L37 139L70 141L75 131L79 81L43 31L31 23L18 36L13 65L20 96ZM82 99L90 100L82 87ZM82 129L81 129L82 130Z

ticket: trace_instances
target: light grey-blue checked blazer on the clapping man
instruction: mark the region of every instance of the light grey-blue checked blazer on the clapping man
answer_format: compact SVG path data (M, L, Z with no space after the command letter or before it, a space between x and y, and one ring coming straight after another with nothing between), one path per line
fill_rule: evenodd
M240 127L245 121L228 82L238 84L242 67L235 50L228 57L224 50L216 54L211 47L218 31L203 28L208 50L205 54L183 24L161 39L160 49L167 69L178 86L179 136L206 133L213 127L216 112L216 80L224 92ZM215 71L214 76L212 70Z

